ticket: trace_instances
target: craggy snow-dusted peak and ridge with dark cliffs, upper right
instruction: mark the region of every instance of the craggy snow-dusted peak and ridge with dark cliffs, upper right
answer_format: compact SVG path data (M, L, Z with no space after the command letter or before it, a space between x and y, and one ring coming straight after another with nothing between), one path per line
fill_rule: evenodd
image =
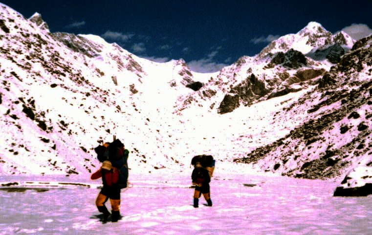
M198 96L182 97L178 110L197 102L223 114L240 105L250 106L306 89L337 63L353 43L344 32L333 35L321 24L310 22L297 34L273 41L260 54L241 57L223 68L197 92Z

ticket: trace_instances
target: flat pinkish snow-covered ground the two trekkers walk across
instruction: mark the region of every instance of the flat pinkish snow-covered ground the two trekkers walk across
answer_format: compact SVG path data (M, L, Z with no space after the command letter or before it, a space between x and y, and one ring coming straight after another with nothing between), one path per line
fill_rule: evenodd
M2 183L44 183L23 192L2 187L0 235L367 235L372 229L372 197L333 197L337 183L329 181L225 174L217 168L213 207L203 206L201 198L194 208L191 170L131 174L131 187L121 194L123 217L106 224L95 218L100 180L83 182L89 188L45 184L66 178L2 177Z

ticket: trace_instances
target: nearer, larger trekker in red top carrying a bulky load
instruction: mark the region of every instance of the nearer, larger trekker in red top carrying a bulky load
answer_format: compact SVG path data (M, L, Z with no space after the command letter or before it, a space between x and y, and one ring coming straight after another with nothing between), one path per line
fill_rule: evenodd
M103 188L98 193L95 204L98 211L103 213L102 221L106 222L111 214L105 203L110 200L111 221L117 222L120 218L120 192L121 189L127 187L129 151L115 136L112 143L105 143L94 150L98 160L102 162L102 166L90 178L94 180L102 177L103 183Z

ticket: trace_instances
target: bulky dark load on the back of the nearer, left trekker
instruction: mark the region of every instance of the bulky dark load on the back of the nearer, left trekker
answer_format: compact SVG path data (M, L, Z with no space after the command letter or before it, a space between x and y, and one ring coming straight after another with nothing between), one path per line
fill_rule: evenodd
M98 161L102 163L108 161L112 167L119 170L117 183L121 189L127 188L129 150L124 148L124 144L114 136L111 143L99 145L94 148L94 151L97 153Z

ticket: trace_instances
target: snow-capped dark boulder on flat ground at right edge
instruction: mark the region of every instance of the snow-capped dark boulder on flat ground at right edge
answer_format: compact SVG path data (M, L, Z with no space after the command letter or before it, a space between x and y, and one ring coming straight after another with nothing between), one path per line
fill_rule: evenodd
M370 194L372 194L372 167L359 166L345 176L333 196L367 196Z

